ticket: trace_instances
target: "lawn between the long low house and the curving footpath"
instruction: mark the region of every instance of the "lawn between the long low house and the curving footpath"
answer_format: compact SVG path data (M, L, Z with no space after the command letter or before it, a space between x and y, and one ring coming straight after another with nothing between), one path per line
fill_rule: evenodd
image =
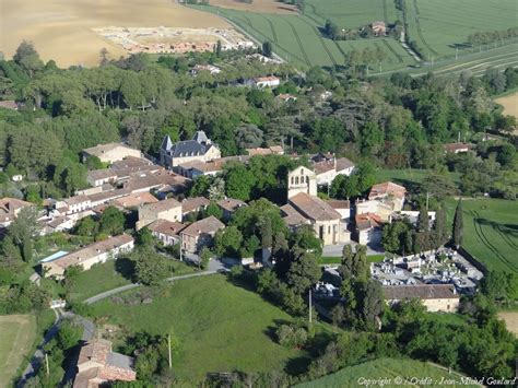
M102 292L130 284L131 264L128 259L108 260L81 272L70 290L69 298L83 301ZM170 266L174 269L172 277L195 271L192 267L175 260L170 260Z

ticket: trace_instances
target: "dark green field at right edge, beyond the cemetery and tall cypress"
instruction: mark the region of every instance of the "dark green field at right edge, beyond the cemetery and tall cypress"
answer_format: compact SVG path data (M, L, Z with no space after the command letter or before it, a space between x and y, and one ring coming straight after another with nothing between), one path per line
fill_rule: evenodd
M446 202L452 220L457 201ZM518 272L518 202L501 199L462 201L462 247L490 270Z

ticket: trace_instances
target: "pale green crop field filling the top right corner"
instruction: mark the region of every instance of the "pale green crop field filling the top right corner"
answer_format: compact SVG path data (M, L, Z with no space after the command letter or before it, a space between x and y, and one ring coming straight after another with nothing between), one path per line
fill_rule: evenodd
M405 3L409 35L428 58L455 56L457 48L460 54L470 52L472 48L467 42L470 34L517 25L515 0L405 0Z

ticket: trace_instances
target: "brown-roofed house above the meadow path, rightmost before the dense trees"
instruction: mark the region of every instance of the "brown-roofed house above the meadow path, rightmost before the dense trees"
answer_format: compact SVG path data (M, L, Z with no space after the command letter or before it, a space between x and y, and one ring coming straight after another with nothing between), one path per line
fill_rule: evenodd
M215 233L224 227L213 215L193 222L180 232L181 249L190 254L199 252L203 247L212 245Z

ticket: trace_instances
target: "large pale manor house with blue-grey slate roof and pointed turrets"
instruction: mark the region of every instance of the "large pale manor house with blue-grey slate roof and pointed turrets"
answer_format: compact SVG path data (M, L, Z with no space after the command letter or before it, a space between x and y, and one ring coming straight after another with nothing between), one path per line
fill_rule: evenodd
M162 165L176 167L181 163L200 161L209 162L221 157L221 152L207 137L205 132L196 132L192 140L174 143L166 136L160 148L160 160Z

